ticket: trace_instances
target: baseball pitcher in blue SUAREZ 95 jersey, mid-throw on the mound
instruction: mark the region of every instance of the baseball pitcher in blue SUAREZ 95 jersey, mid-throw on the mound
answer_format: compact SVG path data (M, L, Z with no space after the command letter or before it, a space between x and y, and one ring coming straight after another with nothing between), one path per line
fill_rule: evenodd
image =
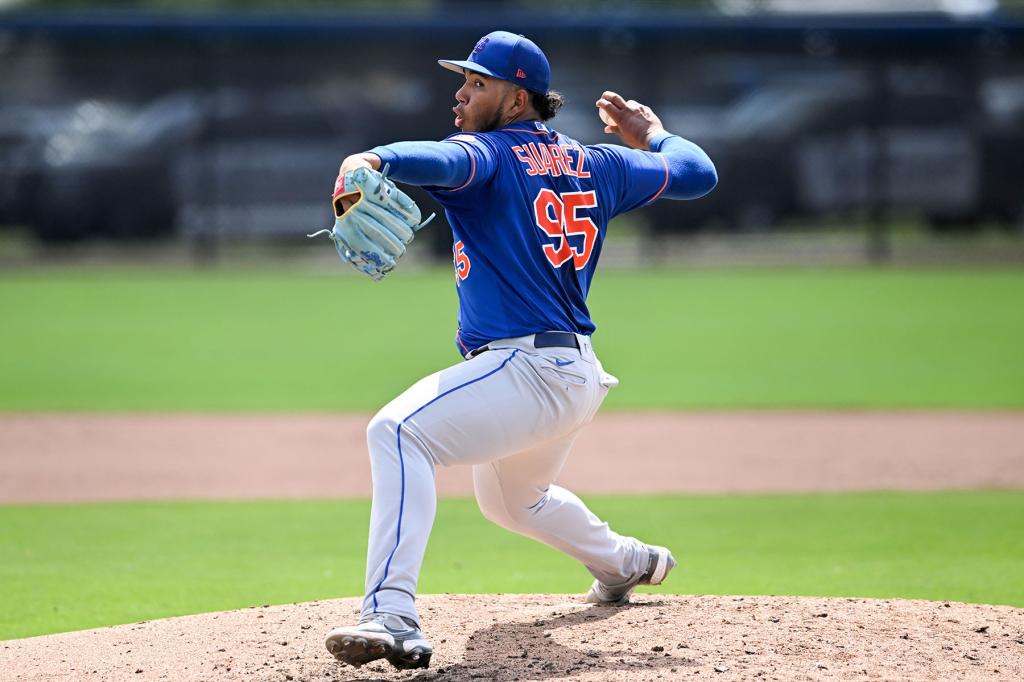
M621 536L554 484L577 434L617 380L591 344L587 292L608 221L657 199L696 199L718 181L695 144L647 106L605 92L605 132L627 145L584 146L545 122L562 105L544 52L497 31L466 60L455 127L440 142L395 142L344 160L329 237L343 260L378 280L424 222L393 180L426 188L455 238L456 344L464 361L419 381L370 422L373 508L359 623L327 648L361 666L425 668L416 585L436 506L434 468L473 467L489 520L578 559L594 576L587 601L624 604L676 562ZM328 230L324 230L328 231Z

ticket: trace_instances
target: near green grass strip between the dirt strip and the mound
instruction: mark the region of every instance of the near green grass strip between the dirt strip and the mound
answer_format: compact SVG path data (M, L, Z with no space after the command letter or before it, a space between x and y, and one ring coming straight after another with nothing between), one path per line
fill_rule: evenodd
M682 594L1024 606L1024 492L592 497ZM0 507L0 639L361 594L369 503ZM579 564L441 500L422 593L582 592Z

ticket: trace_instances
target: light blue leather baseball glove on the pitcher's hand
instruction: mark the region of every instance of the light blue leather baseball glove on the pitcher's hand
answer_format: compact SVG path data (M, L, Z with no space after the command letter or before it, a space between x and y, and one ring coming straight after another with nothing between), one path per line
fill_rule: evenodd
M346 211L341 200L352 195L358 200ZM341 259L375 282L394 269L416 230L434 217L420 221L420 208L387 178L387 166L383 173L356 168L340 176L332 204L334 229L307 237L326 232Z

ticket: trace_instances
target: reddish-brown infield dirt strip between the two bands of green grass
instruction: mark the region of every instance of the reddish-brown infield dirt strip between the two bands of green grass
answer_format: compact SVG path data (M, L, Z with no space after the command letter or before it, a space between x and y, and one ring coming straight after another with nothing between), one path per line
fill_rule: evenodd
M370 415L0 415L0 504L368 498ZM585 494L1024 487L1024 413L610 413ZM438 467L440 495L473 495Z

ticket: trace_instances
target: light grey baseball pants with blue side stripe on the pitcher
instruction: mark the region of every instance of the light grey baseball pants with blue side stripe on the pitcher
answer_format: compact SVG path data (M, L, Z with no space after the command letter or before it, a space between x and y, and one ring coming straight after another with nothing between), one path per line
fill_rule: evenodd
M483 515L579 559L606 585L646 569L647 551L620 536L553 481L579 430L617 383L594 355L535 348L532 336L432 374L385 406L367 428L373 506L362 615L420 622L416 585L437 504L434 467L472 465Z

